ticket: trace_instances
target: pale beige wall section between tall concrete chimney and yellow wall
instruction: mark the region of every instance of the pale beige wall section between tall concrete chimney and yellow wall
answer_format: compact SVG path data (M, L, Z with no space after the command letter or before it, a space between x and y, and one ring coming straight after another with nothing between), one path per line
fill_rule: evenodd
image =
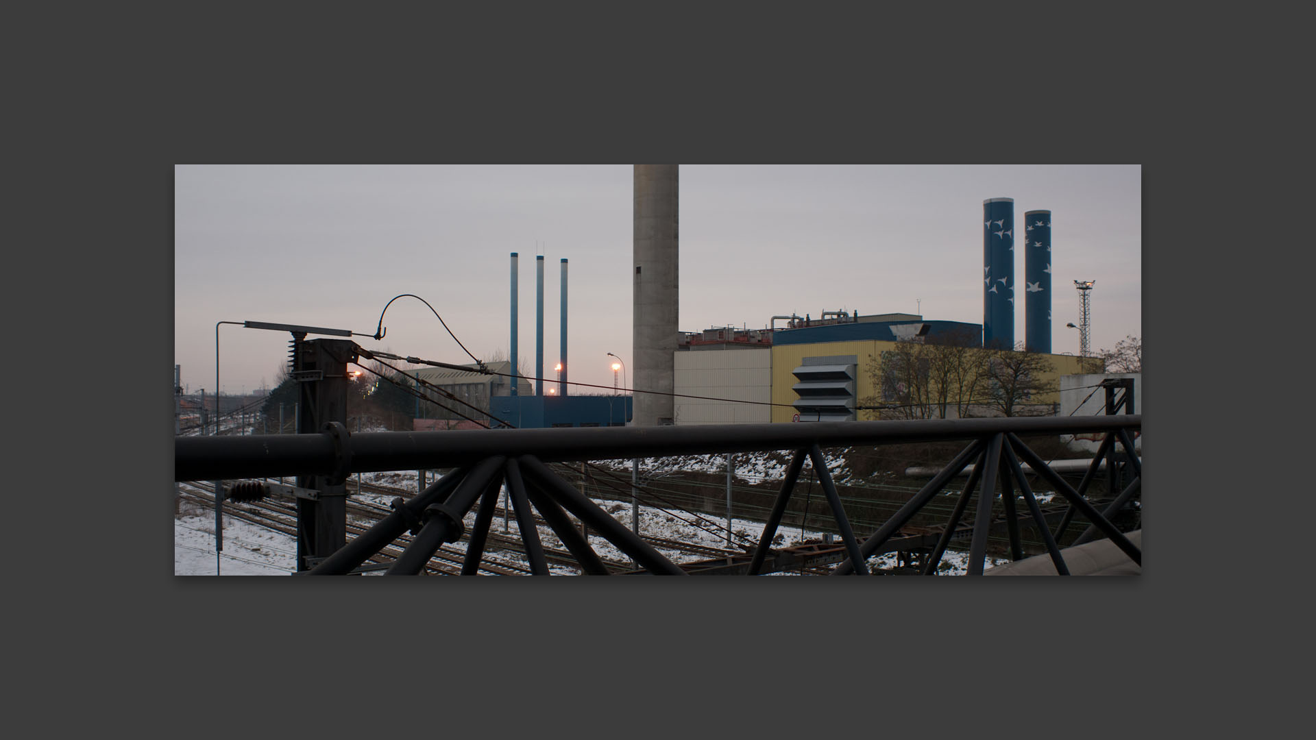
M772 350L728 349L678 352L674 357L678 394L749 400L726 403L675 399L676 424L767 424L772 400ZM638 402L637 402L638 404Z

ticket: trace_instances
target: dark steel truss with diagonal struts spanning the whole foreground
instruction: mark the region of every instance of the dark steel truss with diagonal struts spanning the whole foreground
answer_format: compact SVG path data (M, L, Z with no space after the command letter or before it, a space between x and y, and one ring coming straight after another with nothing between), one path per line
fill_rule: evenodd
M820 566L838 562L833 575L869 574L866 561L894 549L926 546L929 536L901 535L948 482L975 462L944 531L936 536L924 574L937 573L937 565L961 529L969 503L976 496L969 574L984 570L987 537L992 529L992 508L998 495L1005 514L1005 529L1012 560L1023 557L1021 528L1036 528L1061 574L1069 574L1057 545L1078 515L1088 523L1079 541L1098 532L1141 566L1142 553L1109 520L1141 491L1141 465L1133 449L1132 431L1141 429L1138 415L1028 419L959 419L928 421L836 421L815 424L740 424L657 428L570 428L570 429L480 429L450 432L366 432L350 435L341 424L329 423L322 433L265 435L245 437L178 437L175 440L175 481L221 481L236 478L326 475L338 479L351 473L387 470L451 469L411 499L397 498L392 514L367 532L320 560L307 573L338 575L351 573L404 533L412 540L387 574L418 574L443 542L465 535L463 519L479 504L470 532L463 574L474 574L483 557L496 498L505 483L512 510L520 525L526 558L533 574L547 574L544 546L534 525L532 506L587 574L607 575L608 570L586 537L571 523L574 515L591 532L612 542L641 570L636 573L761 574L786 568ZM1104 433L1078 487L1071 487L1034 453L1021 436ZM824 446L887 445L967 440L959 454L862 542L855 536L836 485L828 474ZM1086 498L1088 485L1104 457L1119 444L1124 448L1132 483L1104 511ZM713 454L726 452L794 450L791 465L751 553L678 565L663 557L625 524L578 491L547 467L547 462L588 460L630 460L674 454ZM841 535L840 546L803 545L772 550L796 479L808 460ZM1070 508L1053 533L1042 515L1021 463L1050 483ZM998 494L998 486L1000 494ZM1026 514L1016 507L1023 499Z

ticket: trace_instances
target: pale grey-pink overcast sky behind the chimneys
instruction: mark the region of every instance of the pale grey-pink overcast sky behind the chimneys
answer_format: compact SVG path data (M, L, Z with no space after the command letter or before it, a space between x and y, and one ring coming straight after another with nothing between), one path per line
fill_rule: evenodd
M1051 352L1142 334L1140 165L682 165L679 328L761 329L824 311L983 320L983 200L1015 219L1051 211ZM174 357L190 392L216 382L216 324L347 329L371 350L440 362L509 349L520 254L519 356L534 370L536 267L544 254L544 365L559 354L567 274L569 378L611 388L629 367L633 165L178 165ZM1020 244L1023 244L1020 241ZM1016 257L1023 280L1023 253ZM287 332L218 327L226 394L272 386ZM309 338L315 338L312 334ZM1015 312L1024 338L1024 312ZM625 381L629 381L626 378ZM603 392L578 388L572 392Z

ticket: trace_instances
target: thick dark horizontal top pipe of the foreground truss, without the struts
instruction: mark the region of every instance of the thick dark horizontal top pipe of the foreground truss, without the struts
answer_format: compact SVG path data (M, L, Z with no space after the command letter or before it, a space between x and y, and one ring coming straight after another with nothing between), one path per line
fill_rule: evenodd
M917 444L970 440L996 432L1025 436L1082 435L1125 427L1141 429L1142 416L1133 413L813 424L708 424L657 429L588 427L359 432L338 442L329 433L178 437L174 440L174 479L228 481L301 473L328 475L338 470L340 465L343 474L457 467L495 454L509 457L533 454L544 462L579 462L797 450L807 449L812 444L821 448ZM953 473L958 471L957 467ZM953 475L948 475L950 477Z

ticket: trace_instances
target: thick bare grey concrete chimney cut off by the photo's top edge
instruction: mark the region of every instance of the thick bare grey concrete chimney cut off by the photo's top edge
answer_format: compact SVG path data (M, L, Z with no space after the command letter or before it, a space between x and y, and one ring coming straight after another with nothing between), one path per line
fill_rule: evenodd
M630 352L633 387L671 394L675 390L676 320L679 309L678 165L636 165L634 287ZM670 395L636 394L634 425L672 424Z

